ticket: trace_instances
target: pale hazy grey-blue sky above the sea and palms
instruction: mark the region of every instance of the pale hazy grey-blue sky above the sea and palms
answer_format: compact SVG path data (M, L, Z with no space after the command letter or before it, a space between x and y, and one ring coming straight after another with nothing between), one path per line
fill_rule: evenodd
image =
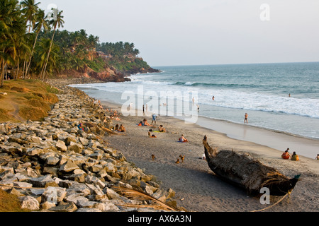
M319 61L319 0L40 2L63 10L62 29L133 42L150 66Z

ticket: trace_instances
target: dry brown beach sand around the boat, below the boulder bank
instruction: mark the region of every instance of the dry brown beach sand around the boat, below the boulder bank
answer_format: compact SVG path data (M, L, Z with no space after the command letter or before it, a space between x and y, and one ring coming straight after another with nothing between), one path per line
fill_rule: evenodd
M120 105L103 102L103 106L121 112ZM148 174L154 174L162 182L163 188L176 191L178 206L196 212L250 212L267 208L281 198L271 196L270 205L262 205L259 197L248 196L246 191L216 177L206 160L201 159L204 153L202 140L206 135L211 146L250 153L264 165L278 169L287 177L301 174L301 180L296 184L291 196L264 211L319 211L319 161L314 159L315 156L313 159L300 156L298 162L283 160L280 157L282 150L230 138L225 133L196 124L185 124L183 120L174 117L157 117L157 126L162 124L167 133L151 132L157 138L149 138L147 133L151 128L138 126L138 122L143 118L149 123L152 121L150 115L121 117L121 121L113 120L112 126L116 123L123 124L126 132L121 133L121 136L108 136L106 141L118 152L123 153L128 161L145 169ZM189 139L189 143L177 142L181 134ZM273 135L276 137L276 133ZM304 139L304 142L306 145L306 142L312 141ZM155 155L155 160L152 160L151 155ZM185 155L185 160L176 164L179 155Z

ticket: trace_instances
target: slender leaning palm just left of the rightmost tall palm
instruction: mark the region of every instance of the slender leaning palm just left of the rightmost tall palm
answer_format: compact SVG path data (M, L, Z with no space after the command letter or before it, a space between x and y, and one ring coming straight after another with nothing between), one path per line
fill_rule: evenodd
M26 77L28 76L28 73L29 73L31 59L33 57L35 44L37 43L37 40L38 40L38 35L39 35L40 31L42 30L42 28L43 28L43 30L48 30L48 28L49 28L49 25L47 23L47 16L45 16L45 11L44 10L42 10L42 9L38 10L38 12L35 15L35 22L36 23L34 25L34 30L36 31L36 35L35 35L35 41L34 41L34 44L33 44L33 49L32 49L32 52L30 54L30 58L29 58L29 61L28 61L28 66L26 67L26 73L25 73Z

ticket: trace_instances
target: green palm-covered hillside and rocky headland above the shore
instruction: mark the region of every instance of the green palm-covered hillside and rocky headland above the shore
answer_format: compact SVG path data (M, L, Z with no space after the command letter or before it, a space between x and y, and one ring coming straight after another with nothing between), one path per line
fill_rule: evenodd
M0 1L0 86L4 79L93 77L125 81L132 73L158 72L135 44L100 42L85 30L61 30L63 11L52 13L34 0Z

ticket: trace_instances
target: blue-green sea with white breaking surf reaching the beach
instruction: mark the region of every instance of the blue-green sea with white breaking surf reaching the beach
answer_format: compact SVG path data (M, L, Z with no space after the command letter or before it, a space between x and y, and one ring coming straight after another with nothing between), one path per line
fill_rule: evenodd
M99 100L138 109L148 104L149 112L179 118L244 124L247 113L250 126L319 139L319 62L156 69L162 72L132 75L130 82L72 86Z

